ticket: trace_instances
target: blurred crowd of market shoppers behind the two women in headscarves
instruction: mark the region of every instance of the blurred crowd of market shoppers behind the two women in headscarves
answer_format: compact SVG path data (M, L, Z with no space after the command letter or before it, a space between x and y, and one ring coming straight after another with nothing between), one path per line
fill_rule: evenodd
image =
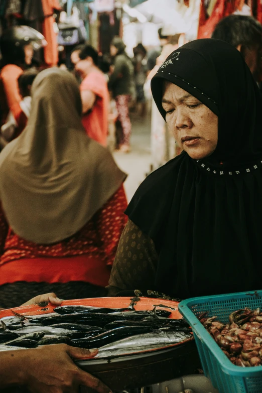
M129 112L145 117L151 111L150 81L163 60L179 46L179 40L180 45L184 43L181 35L163 36L161 30L159 47L147 50L139 43L133 49L133 58L127 55L125 44L119 37L112 40L110 54L98 53L83 43L70 47L69 62L60 58L59 68L72 72L80 85L82 122L87 135L107 146L108 130L111 130L111 151L130 151L132 123ZM34 60L35 48L40 48L40 41L39 33L34 29L18 26L9 29L1 38L2 148L17 138L27 124L31 86L41 71Z

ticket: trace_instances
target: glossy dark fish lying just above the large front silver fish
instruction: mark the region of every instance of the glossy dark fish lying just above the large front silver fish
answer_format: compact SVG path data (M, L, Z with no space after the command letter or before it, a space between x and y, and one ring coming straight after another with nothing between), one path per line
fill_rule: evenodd
M71 340L71 345L88 348L88 349L99 348L101 346L118 341L122 338L135 336L137 334L149 333L149 332L152 332L152 329L148 327L125 326L121 328L108 330L107 332L98 334L98 336L94 336L90 338L82 338L82 339L80 338L78 340Z

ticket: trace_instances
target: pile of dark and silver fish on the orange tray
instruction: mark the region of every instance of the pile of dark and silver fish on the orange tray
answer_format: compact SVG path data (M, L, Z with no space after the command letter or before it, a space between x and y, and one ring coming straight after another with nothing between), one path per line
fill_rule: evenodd
M97 357L154 350L192 338L184 319L169 318L163 309L60 306L54 313L29 317L14 312L1 320L0 351L66 343L99 348Z

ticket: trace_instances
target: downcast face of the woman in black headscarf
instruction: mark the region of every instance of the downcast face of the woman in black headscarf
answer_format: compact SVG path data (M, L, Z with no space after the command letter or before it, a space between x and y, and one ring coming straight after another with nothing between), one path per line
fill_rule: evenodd
M162 106L178 146L194 160L216 148L218 117L206 105L171 82L165 82Z

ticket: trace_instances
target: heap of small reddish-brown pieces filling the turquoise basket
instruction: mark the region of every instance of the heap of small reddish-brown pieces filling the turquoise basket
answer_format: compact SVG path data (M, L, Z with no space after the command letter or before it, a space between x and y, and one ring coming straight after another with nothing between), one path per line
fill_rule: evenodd
M198 317L200 322L233 364L242 367L262 364L262 312L259 308L234 311L229 315L228 324L206 315Z

